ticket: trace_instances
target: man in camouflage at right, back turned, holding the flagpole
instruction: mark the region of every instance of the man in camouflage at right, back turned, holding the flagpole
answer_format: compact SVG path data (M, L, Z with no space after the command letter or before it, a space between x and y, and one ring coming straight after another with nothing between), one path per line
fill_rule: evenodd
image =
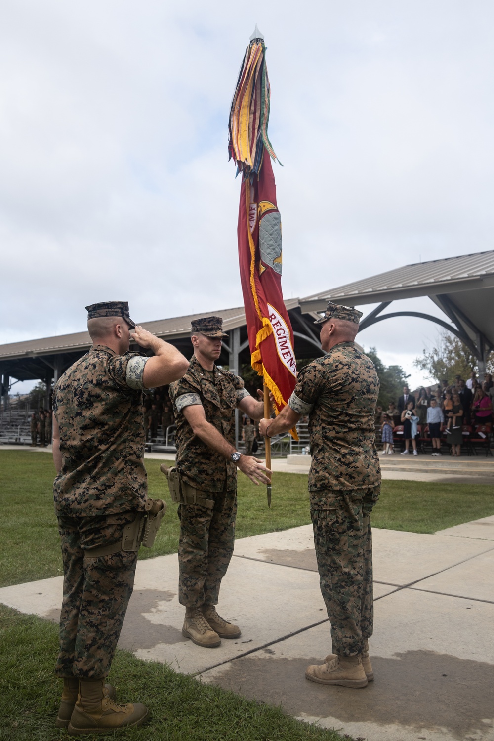
M326 353L302 368L288 405L262 419L272 437L309 415L310 516L321 594L331 622L333 653L305 676L324 685L365 687L374 678L368 639L373 634L370 513L381 469L374 414L379 381L373 362L356 348L361 312L330 302L321 319Z

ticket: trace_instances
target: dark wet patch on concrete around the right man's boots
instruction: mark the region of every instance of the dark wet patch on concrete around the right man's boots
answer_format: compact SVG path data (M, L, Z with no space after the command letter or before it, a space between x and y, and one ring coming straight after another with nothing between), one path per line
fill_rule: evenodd
M433 651L407 651L393 659L373 657L375 681L355 690L307 681L307 665L321 663L321 657L250 656L231 662L213 682L258 702L281 704L292 716L337 718L342 725L444 728L461 741L492 728L493 665Z

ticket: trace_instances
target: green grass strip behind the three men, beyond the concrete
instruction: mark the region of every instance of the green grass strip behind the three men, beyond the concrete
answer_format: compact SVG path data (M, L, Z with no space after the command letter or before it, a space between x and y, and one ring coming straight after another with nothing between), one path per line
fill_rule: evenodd
M153 548L139 558L176 553L178 517L161 461L146 459L149 494L168 505ZM53 513L54 468L48 453L1 451L0 586L62 574L59 534ZM492 487L485 484L439 484L384 481L373 511L373 527L434 533L436 530L494 514ZM274 473L273 499L267 508L266 488L238 476L236 536L244 538L310 523L307 477Z

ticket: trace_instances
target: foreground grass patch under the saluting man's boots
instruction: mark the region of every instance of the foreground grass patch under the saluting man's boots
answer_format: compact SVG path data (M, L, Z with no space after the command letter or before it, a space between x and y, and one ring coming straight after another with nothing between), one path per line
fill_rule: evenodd
M68 738L67 731L55 728L61 694L61 680L53 674L57 652L58 626L0 605L1 741ZM135 700L150 708L150 722L116 734L124 741L343 741L281 708L203 685L127 651L116 651L109 681L121 702Z

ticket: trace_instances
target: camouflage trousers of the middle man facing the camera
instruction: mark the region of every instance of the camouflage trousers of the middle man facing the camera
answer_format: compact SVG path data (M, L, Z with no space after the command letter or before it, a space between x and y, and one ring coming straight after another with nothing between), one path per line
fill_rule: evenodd
M235 543L236 491L201 491L213 509L178 505L178 601L185 607L217 605Z

